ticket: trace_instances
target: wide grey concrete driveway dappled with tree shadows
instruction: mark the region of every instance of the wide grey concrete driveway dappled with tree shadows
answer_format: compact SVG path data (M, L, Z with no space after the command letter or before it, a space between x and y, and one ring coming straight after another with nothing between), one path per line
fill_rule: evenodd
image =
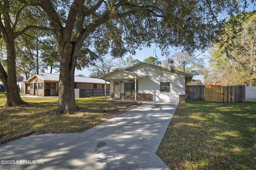
M156 151L177 106L150 102L83 133L30 136L0 145L0 160L6 160L0 169L169 170Z

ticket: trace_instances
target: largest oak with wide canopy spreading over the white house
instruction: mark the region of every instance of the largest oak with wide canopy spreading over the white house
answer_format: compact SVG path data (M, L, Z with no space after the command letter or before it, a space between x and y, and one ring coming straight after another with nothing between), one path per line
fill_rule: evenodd
M239 0L21 0L40 6L56 35L60 53L58 113L73 112L74 70L80 49L84 61L111 53L121 57L152 43L168 51L204 49L223 21L239 13Z

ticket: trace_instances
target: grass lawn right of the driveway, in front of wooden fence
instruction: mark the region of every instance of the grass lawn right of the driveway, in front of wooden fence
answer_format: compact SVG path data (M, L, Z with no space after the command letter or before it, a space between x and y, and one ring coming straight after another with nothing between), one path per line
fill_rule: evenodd
M255 170L256 102L186 100L157 154L175 170Z

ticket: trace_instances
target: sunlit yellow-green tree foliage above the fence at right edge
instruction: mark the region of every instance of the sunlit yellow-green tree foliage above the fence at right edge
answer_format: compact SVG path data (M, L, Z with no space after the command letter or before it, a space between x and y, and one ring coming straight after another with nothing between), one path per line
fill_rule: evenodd
M230 22L239 20L240 27L233 27ZM256 66L256 12L246 12L228 20L225 28L229 35L216 43L211 51L208 80L222 82L224 85L255 83ZM239 30L238 30L239 29ZM236 36L232 36L237 32ZM229 37L228 37L229 36Z

